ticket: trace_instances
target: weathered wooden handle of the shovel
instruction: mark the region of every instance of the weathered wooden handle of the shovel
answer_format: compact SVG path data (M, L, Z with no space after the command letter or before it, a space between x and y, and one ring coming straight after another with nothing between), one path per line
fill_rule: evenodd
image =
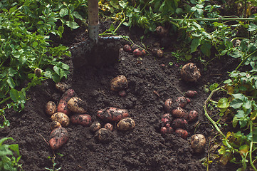
M98 0L88 0L88 29L89 37L98 43Z

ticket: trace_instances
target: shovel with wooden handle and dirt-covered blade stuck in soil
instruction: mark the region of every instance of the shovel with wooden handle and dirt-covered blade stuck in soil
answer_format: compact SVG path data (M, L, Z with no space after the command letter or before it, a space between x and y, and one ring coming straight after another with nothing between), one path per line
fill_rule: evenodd
M117 41L120 40L120 37L100 37L98 35L98 0L88 0L88 21L89 38L70 47L74 68L82 66L100 68L116 63L119 60L120 48Z

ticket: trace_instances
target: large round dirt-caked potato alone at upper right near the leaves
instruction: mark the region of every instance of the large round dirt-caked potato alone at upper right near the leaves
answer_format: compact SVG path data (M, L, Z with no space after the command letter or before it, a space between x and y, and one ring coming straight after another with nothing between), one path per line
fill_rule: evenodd
M199 68L194 63L187 63L180 71L180 75L184 81L194 82L201 77Z

